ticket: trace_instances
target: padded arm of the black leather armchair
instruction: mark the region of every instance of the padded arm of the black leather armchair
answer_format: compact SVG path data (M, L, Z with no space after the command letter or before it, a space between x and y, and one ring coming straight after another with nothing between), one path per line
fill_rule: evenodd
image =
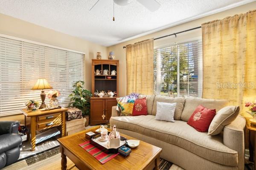
M0 122L0 135L6 133L16 133L18 134L20 122L18 121L3 121Z

